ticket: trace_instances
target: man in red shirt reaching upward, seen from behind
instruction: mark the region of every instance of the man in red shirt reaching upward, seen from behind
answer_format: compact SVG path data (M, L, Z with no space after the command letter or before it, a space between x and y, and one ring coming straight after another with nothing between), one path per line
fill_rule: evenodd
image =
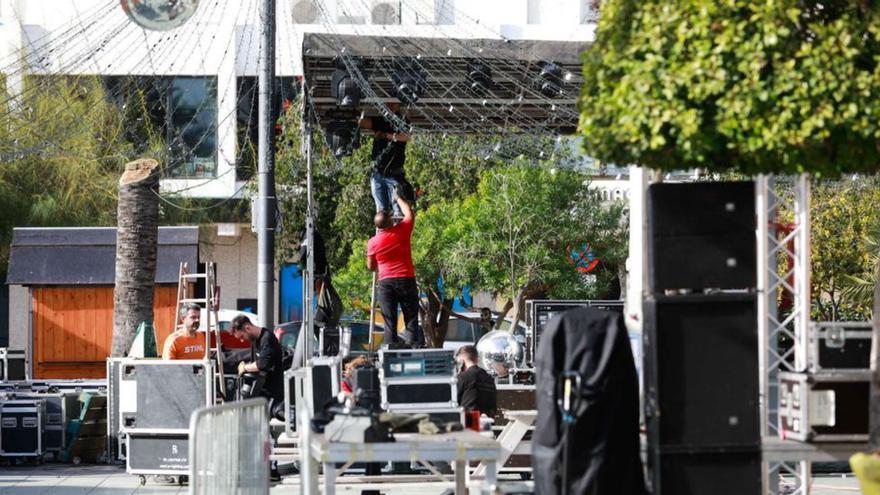
M424 343L419 331L419 290L412 262L412 230L415 216L412 206L395 193L394 200L403 212L403 220L393 224L391 216L379 211L373 218L379 232L367 243L367 267L379 272L379 306L385 319L385 342L401 345L397 336L397 306L403 311L406 331L403 345L418 347Z

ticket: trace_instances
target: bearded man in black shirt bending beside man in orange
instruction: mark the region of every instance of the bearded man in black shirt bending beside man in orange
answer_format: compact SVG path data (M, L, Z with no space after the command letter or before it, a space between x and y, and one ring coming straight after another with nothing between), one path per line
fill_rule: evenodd
M269 400L269 413L284 420L284 370L281 365L281 344L275 334L254 325L250 318L238 315L232 319L232 332L239 339L251 342L251 361L238 364L238 374L259 373L265 378L259 393Z

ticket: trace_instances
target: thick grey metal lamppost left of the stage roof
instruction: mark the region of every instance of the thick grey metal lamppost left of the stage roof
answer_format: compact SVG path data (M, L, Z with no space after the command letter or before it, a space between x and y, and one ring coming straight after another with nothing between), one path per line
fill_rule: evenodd
M275 0L260 9L259 115L257 143L257 314L260 326L275 320Z

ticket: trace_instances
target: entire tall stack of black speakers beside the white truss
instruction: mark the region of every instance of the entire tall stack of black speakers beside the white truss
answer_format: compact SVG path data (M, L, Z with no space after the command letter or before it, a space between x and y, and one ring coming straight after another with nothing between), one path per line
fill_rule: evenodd
M761 493L752 182L648 190L645 417L654 495Z

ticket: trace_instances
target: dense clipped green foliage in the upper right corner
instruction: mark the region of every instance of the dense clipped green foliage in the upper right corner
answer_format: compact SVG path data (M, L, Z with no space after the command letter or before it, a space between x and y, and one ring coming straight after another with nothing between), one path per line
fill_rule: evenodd
M584 147L665 170L877 170L878 38L876 2L605 1Z

